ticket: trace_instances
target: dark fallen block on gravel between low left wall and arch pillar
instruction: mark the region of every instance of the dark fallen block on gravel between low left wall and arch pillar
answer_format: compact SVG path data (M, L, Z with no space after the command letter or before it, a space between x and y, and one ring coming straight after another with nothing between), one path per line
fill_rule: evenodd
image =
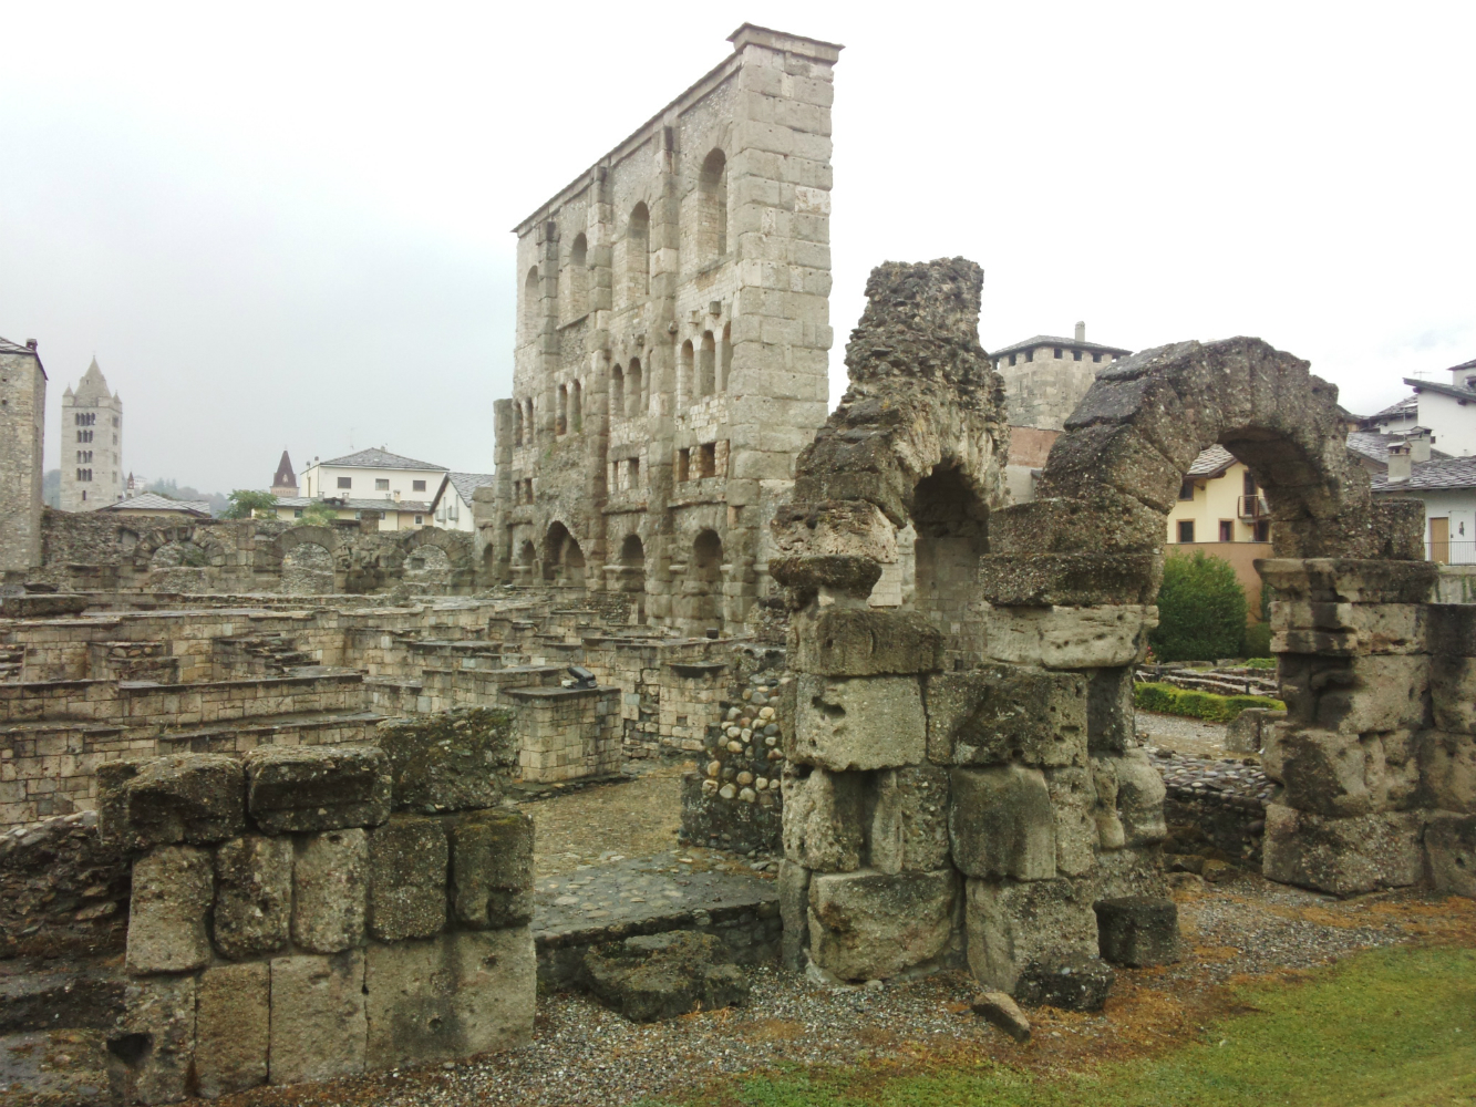
M589 990L635 1023L747 1002L748 980L713 934L669 930L584 953Z

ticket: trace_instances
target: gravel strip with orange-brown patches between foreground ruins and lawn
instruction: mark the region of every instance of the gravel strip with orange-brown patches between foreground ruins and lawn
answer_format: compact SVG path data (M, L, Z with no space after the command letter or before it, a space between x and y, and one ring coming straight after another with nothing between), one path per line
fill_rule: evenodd
M632 1024L580 995L539 998L531 1045L459 1066L298 1089L257 1089L224 1104L376 1104L615 1107L686 1098L725 1076L787 1064L967 1063L1080 1070L1111 1057L1187 1041L1227 1007L1221 984L1262 974L1297 976L1356 949L1432 933L1476 942L1476 903L1387 893L1339 902L1243 875L1206 886L1176 874L1185 958L1117 970L1104 1011L1030 1013L1035 1039L1015 1046L968 1010L977 992L961 971L828 990L776 968L745 970L748 1007ZM731 1088L731 1085L728 1085Z

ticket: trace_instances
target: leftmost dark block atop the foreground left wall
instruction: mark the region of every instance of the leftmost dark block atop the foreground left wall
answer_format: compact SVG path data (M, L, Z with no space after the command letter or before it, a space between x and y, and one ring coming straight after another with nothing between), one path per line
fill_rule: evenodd
M245 830L241 762L218 754L149 757L99 776L103 837L130 850L223 841Z

